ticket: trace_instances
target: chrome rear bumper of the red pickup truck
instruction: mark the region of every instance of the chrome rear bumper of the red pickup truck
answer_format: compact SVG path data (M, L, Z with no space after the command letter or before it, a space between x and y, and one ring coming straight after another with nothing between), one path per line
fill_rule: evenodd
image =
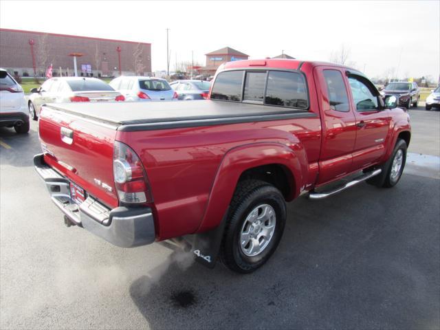
M50 197L70 221L121 248L155 241L151 208L107 208L94 197L76 203L70 196L70 181L45 164L43 154L34 156L36 173L45 182Z

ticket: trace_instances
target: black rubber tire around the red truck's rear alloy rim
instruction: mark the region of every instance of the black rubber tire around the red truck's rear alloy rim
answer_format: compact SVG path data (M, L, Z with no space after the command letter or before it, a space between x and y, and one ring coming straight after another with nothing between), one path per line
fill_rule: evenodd
M248 256L241 246L241 231L245 228L246 219L253 210L259 212L259 207L272 207L275 215L274 230L265 248L259 254ZM273 214L271 210L270 214ZM239 182L230 203L228 219L221 243L221 261L230 270L239 273L251 273L261 267L276 250L283 236L286 221L286 205L281 192L267 182L245 180ZM261 225L261 230L263 225ZM263 244L264 245L264 244Z

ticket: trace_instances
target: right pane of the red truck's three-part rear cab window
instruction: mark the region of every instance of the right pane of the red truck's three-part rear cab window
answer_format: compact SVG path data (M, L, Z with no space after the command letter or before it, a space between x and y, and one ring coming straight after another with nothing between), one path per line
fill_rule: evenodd
M305 79L301 74L269 72L265 104L307 109L308 103Z

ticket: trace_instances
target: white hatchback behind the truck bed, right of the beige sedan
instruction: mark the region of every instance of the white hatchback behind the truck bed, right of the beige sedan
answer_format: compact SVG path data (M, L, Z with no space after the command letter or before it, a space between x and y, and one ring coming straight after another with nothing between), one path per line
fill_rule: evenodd
M143 76L121 76L111 80L110 86L127 101L177 100L177 93L165 79Z

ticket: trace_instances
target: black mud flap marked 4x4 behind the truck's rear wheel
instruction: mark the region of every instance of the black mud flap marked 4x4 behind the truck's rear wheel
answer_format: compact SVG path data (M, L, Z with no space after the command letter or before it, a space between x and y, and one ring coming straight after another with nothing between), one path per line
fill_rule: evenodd
M221 220L221 223L208 232L194 234L191 252L194 253L195 260L208 268L214 268L219 258L221 240L223 239L223 230L225 230L228 210Z

